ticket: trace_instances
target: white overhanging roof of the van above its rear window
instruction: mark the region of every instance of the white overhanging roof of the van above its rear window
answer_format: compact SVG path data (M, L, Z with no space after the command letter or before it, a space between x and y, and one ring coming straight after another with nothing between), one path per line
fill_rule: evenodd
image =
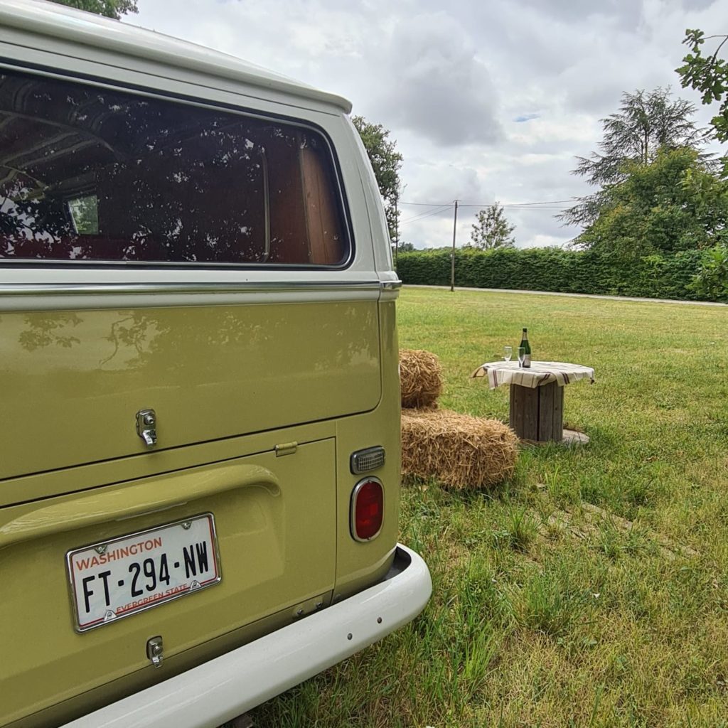
M233 55L45 0L2 0L2 25L329 103L346 114L352 110L351 102L341 96L301 84Z

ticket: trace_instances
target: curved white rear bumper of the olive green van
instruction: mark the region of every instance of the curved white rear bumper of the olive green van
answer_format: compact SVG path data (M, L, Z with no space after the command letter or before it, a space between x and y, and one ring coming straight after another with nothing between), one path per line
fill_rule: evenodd
M422 558L397 545L379 584L63 728L215 728L405 625L431 592Z

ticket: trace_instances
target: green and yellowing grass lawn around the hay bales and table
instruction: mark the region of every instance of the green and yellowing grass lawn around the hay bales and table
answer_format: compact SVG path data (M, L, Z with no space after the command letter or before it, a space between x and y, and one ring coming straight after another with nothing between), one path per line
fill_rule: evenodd
M492 493L403 486L434 593L380 644L253 713L257 727L728 726L728 311L409 289L400 346L441 405L507 420L470 372L518 346L596 368Z

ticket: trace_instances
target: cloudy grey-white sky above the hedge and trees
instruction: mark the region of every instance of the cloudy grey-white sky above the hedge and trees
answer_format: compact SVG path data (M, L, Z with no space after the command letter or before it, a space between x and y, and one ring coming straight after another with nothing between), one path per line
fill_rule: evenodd
M215 48L352 101L404 161L400 240L470 240L498 201L521 248L566 245L587 194L575 157L623 92L680 87L686 28L728 33L726 0L138 0L127 23ZM714 113L714 110L713 110ZM539 203L533 205L531 203ZM544 203L544 204L541 204ZM552 204L549 204L552 203ZM430 206L428 206L430 205Z

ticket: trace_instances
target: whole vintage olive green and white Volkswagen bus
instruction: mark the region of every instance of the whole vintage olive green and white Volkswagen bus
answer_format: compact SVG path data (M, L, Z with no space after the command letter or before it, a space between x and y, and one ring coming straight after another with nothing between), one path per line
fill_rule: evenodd
M418 614L335 95L0 4L0 726L215 726Z

